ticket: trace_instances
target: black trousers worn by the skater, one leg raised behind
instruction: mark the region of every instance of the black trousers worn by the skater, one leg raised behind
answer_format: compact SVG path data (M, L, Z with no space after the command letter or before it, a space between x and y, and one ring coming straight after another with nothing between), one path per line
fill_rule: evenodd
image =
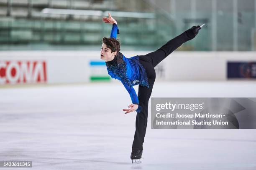
M133 140L133 150L143 150L143 142L146 134L146 128L148 123L148 100L151 96L154 82L156 80L156 72L154 67L159 64L165 57L176 50L182 43L194 38L192 30L187 30L181 35L169 40L158 50L148 53L147 55L140 55L139 59L143 67L145 68L148 76L149 88L139 85L138 100L139 105L142 107L141 112L137 112L136 115L136 130Z

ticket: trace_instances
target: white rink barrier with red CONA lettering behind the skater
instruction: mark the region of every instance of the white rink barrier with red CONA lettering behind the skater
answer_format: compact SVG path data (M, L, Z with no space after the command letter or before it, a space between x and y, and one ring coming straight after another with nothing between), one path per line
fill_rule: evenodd
M145 55L148 52L151 51L122 51L125 57ZM175 51L155 67L156 79L161 81L225 81L228 80L228 62L256 62L255 56L256 52ZM7 62L40 63L42 61L45 63L46 78L43 79L44 81L41 81L41 79L40 81L18 81L17 77L20 77L21 74L34 74L33 71L27 69L19 73L20 75L13 74L13 77L10 77L10 73L8 73L9 78L13 80L11 84L63 84L118 81L111 79L108 75L105 62L100 60L100 51L1 51L0 84L10 84L10 82L5 80L5 65ZM17 65L13 67L17 68ZM8 71L10 71L10 68ZM32 80L31 77L26 78Z

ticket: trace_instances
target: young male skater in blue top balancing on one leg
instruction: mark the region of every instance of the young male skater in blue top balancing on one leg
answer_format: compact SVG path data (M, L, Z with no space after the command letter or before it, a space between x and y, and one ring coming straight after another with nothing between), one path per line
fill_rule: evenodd
M105 60L108 74L115 79L120 80L128 91L133 104L128 109L123 109L126 113L136 110L136 131L132 145L131 159L132 163L141 163L143 142L146 134L148 119L148 100L150 98L153 85L156 79L154 67L164 60L169 54L181 46L184 42L193 39L201 27L193 26L181 35L169 40L158 50L146 55L137 55L126 58L120 52L120 42L116 40L119 29L116 20L111 17L102 18L103 22L110 23L112 30L110 38L103 37L100 58ZM133 89L134 85L139 85L138 96Z

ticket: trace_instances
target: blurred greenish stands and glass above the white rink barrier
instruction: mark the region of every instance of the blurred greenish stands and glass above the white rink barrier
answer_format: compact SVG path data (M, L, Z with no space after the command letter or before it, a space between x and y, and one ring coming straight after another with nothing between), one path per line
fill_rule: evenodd
M0 50L98 50L110 25L122 50L152 50L193 25L194 41L179 50L254 51L255 0L0 0Z

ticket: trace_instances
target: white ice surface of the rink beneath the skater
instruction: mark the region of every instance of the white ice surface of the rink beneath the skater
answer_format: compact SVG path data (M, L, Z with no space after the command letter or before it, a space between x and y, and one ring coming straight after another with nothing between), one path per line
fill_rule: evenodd
M256 97L256 82L156 81L151 97ZM2 87L0 161L32 161L22 170L256 170L256 130L151 130L150 108L142 163L132 165L136 112L122 111L130 104L120 82Z

